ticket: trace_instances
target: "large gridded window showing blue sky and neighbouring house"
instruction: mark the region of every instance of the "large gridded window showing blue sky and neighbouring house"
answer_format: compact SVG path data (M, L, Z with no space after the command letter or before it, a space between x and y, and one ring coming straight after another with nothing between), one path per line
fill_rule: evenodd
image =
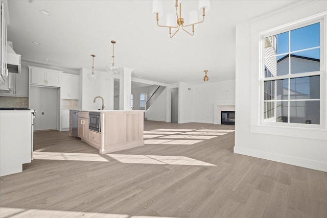
M263 37L262 119L320 125L323 79L321 21Z

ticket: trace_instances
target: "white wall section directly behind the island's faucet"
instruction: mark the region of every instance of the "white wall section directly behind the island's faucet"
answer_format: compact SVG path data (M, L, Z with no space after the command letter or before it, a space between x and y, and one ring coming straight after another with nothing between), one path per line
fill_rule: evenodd
M90 81L87 74L91 69L82 68L80 70L82 109L97 110L101 109L101 99L93 103L96 96L102 96L104 99L105 110L113 110L113 76L107 72L95 71L99 74L97 81Z

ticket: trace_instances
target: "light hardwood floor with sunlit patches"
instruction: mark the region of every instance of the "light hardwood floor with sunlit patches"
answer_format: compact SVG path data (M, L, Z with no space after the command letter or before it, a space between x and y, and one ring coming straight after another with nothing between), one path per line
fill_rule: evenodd
M157 129L233 126L145 121ZM68 132L35 132L35 160L0 178L0 217L327 217L327 173L234 154L234 132L181 132L108 155Z

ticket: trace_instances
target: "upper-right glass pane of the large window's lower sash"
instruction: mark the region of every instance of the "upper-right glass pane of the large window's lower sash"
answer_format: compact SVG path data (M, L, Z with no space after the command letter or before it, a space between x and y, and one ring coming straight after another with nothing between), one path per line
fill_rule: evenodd
M292 78L290 99L319 99L320 76Z

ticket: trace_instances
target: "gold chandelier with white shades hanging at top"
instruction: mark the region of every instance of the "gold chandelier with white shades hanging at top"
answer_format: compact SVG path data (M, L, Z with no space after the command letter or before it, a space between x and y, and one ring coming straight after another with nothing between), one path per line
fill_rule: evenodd
M166 26L165 25L159 25L159 17L162 16L162 0L153 0L153 5L152 5L152 13L156 13L156 18L157 18L157 25L159 27L166 27L169 28L169 36L170 38L173 38L173 36L179 31L180 27L182 28L183 31L186 33L190 34L191 36L194 36L194 29L196 26L204 21L204 16L205 16L205 10L208 12L210 8L210 2L209 0L199 0L199 10L202 9L202 20L198 21L198 14L196 10L192 10L189 13L189 24L184 25L184 18L182 17L182 0L176 0L175 1L175 7L176 7L176 18L177 18L177 24L174 24L174 15L173 14L168 14L167 15L167 21L166 21ZM179 16L178 16L178 3L179 3ZM191 27L192 26L192 33L189 31L185 30L185 27ZM176 32L172 35L172 28L177 29Z

